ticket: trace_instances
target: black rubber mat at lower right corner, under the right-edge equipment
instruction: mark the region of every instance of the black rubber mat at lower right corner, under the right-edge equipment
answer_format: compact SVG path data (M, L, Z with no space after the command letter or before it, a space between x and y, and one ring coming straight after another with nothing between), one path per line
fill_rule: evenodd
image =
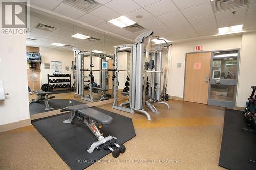
M249 159L256 160L256 134L246 127L242 111L225 110L219 166L227 169L256 169Z

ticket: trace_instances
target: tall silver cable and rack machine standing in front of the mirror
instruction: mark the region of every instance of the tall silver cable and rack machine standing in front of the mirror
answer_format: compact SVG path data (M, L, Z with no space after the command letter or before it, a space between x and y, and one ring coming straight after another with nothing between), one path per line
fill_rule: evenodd
M135 39L135 44L115 46L114 55L114 102L112 108L129 112L132 114L134 114L134 111L138 111L146 115L148 120L151 120L151 116L145 110L145 105L147 105L155 114L159 114L160 112L157 111L156 107L154 106L154 102L165 104L168 109L170 108L167 103L160 100L160 92L153 93L153 91L150 91L150 89L153 86L152 82L161 82L161 78L158 78L157 76L155 77L158 79L154 79L151 81L151 76L153 74L159 74L161 76L162 74L162 61L160 61L160 59L162 60L162 58L156 58L156 54L161 54L162 49L157 48L155 54L150 52L152 34L152 31L146 31ZM147 43L145 42L145 39L147 39ZM144 45L144 43L147 45ZM165 46L169 47L170 44L165 44L163 47ZM130 47L131 55L129 60L129 80L127 79L125 86L128 84L129 86L126 86L123 92L121 92L121 94L127 96L128 100L118 105L118 52L127 47ZM145 51L144 47L146 48ZM159 66L156 68L154 65L154 60L151 59L152 55L155 55L155 59L159 60ZM161 83L159 83L159 91L161 89L160 85ZM153 96L151 96L152 93L154 94Z

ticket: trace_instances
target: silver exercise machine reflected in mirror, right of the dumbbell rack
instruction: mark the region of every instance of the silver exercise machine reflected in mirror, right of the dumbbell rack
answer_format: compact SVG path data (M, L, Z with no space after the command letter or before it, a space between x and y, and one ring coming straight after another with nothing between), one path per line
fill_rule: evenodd
M79 49L74 48L74 62L72 64L72 70L75 72L75 87L76 87L76 95L80 95L83 100L87 100L90 102L94 102L93 93L97 92L100 101L109 99L109 96L106 95L106 91L108 91L108 61L106 58L113 59L112 55L107 55L104 53L94 53L92 51L81 51ZM90 60L90 69L85 68L85 57L89 57ZM100 58L100 69L96 70L93 69L93 57ZM76 65L74 65L76 63ZM87 75L86 73L89 72ZM93 72L100 72L100 83L97 87L93 87L94 82L94 75ZM89 80L84 80L85 78L89 78ZM89 83L89 85L88 85ZM89 94L85 93L85 89L89 91Z

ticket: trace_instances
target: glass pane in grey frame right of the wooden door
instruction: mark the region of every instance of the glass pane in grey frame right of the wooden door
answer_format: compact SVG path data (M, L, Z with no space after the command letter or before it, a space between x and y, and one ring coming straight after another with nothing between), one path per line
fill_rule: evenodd
M240 50L212 52L209 105L234 108Z

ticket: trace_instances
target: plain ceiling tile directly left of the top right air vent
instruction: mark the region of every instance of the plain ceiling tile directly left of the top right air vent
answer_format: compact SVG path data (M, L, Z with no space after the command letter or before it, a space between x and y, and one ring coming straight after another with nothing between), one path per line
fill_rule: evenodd
M185 15L186 18L195 18L213 13L210 3L200 4L194 7L186 8L181 10L181 12Z

